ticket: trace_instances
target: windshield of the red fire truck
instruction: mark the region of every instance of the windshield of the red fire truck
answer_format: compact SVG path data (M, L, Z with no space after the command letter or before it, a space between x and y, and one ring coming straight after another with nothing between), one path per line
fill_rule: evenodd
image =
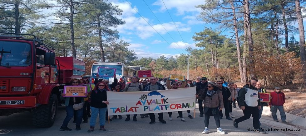
M0 41L1 66L31 65L31 45L23 42Z

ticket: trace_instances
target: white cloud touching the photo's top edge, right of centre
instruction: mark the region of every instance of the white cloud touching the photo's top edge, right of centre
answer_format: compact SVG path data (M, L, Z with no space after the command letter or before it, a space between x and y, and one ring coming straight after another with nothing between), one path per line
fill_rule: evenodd
M204 4L204 0L164 0L168 10L174 8L177 14L182 15L185 12L201 12L200 8L195 8L196 5ZM153 5L160 6L161 11L165 11L166 7L162 0L158 0Z

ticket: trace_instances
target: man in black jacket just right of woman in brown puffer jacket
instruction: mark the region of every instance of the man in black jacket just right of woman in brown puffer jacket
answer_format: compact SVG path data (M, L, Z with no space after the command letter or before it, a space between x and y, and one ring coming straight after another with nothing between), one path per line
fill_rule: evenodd
M233 120L230 118L230 102L228 99L231 96L230 90L227 87L222 86L223 82L222 81L217 81L217 84L219 85L220 91L222 91L222 96L223 96L223 104L224 104L224 109L225 109L225 117L228 120ZM219 119L221 120L223 118L222 110L220 110L220 117Z

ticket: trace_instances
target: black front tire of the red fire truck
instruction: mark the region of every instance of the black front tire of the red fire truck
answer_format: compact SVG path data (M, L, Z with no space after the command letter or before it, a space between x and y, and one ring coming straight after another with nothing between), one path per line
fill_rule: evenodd
M33 125L39 128L51 127L57 114L57 96L51 94L49 103L36 108L33 112Z

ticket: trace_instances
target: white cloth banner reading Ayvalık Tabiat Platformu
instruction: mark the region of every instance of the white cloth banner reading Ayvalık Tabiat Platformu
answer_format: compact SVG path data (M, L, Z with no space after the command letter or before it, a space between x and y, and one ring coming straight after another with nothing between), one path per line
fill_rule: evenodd
M107 91L108 115L194 110L195 89L196 87L139 92Z

